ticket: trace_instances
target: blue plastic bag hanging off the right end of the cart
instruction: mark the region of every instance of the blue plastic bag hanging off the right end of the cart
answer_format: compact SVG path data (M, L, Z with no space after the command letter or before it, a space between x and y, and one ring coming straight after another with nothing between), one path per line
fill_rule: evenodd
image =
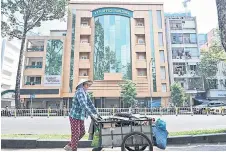
M168 137L168 131L166 130L166 122L161 119L158 119L152 129L155 139L155 145L160 149L166 149Z

